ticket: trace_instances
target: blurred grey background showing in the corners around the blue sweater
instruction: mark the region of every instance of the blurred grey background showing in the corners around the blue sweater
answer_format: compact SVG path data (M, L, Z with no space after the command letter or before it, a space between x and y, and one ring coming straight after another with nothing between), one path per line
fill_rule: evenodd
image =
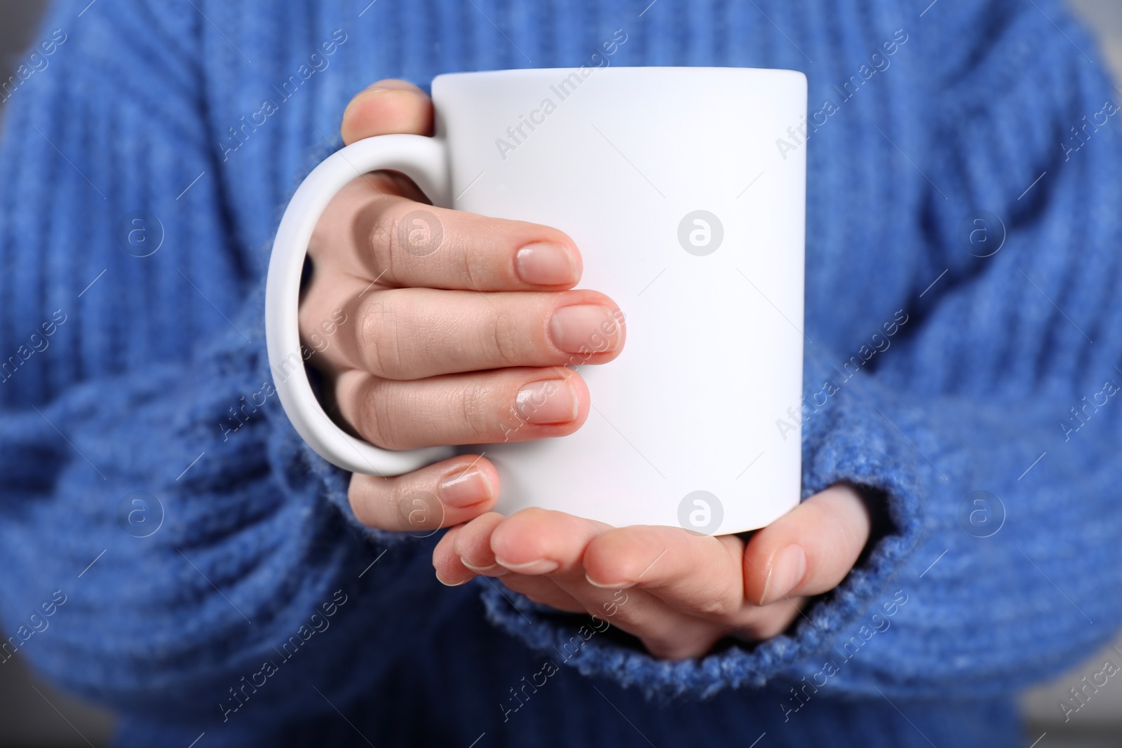
M36 25L49 0L0 0L0 80L7 80L24 49L34 40ZM1028 0L1027 0L1028 1ZM1102 53L1092 54L1122 81L1122 0L1068 0L1098 36ZM1105 59L1101 59L1105 55ZM0 104L0 116L2 116ZM2 131L0 131L2 132ZM1095 693L1078 713L1064 721L1060 699L1084 676L1102 669L1105 658L1122 663L1107 647L1054 683L1024 694L1028 717L1023 745L1032 748L1122 747L1122 684L1114 678ZM0 665L0 747L103 746L112 729L109 715L65 696L29 673L16 655Z

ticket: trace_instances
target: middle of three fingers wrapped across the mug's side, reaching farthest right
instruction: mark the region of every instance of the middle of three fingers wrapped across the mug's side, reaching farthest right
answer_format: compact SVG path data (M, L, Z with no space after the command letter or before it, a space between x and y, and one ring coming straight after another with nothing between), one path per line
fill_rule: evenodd
M624 315L596 290L490 293L393 288L359 295L359 283L335 284L351 302L329 308L325 298L301 305L309 342L337 325L323 354L338 369L384 379L423 379L507 367L606 363L623 349ZM316 324L319 323L319 327Z

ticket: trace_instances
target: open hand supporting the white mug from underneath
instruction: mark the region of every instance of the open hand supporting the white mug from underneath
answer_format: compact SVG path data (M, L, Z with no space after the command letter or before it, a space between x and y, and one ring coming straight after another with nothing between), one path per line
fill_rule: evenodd
M761 640L787 629L807 597L849 573L870 525L847 484L811 496L747 543L544 509L493 511L448 530L433 566L444 584L502 576L535 602L609 620L655 657L698 657L726 636Z

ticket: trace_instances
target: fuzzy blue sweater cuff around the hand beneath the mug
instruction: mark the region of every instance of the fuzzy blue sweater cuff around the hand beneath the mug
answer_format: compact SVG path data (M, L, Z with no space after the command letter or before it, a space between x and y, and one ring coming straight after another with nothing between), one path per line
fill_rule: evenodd
M868 610L892 598L898 571L923 535L919 455L889 419L872 377L855 373L845 379L829 354L808 351L803 381L802 498L850 482L883 496L886 516L884 533L870 541L842 584L818 597L788 631L757 644L729 638L700 658L655 659L634 637L604 630L603 621L560 613L500 588L500 580L480 579L489 620L583 675L635 685L647 698L663 701L762 686L817 661L816 655L853 634ZM822 405L812 405L817 403Z

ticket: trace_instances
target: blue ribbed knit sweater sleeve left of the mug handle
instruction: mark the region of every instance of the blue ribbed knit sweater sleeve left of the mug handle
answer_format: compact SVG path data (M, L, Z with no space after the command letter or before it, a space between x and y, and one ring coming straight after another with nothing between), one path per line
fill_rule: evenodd
M204 121L205 22L56 3L0 149L0 665L172 721L221 719L267 662L304 687L254 703L329 710L306 683L335 701L381 677L432 592L403 573L421 545L355 520L349 474L272 389L264 262L224 223Z

